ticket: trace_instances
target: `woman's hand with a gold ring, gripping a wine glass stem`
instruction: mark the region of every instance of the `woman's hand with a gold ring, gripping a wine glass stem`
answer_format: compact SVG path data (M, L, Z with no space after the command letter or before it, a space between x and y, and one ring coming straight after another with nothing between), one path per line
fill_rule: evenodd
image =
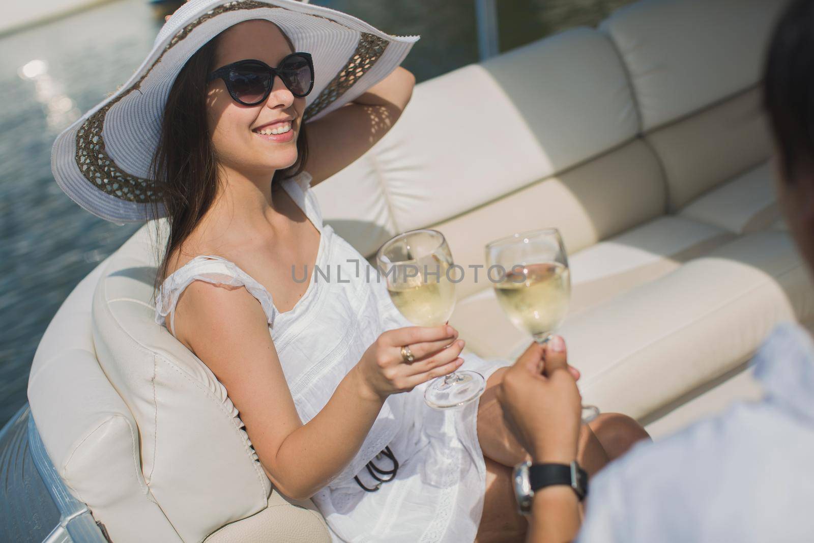
M425 381L457 370L464 347L453 326L405 326L379 335L356 366L361 394L385 400L398 392L409 392ZM406 362L401 348L409 346L414 360Z

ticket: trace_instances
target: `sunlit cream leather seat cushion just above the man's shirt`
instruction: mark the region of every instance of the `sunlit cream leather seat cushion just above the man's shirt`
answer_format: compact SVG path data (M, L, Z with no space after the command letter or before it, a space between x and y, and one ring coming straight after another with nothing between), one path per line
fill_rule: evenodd
M748 360L777 322L812 313L794 243L766 231L575 315L562 335L585 401L641 417Z

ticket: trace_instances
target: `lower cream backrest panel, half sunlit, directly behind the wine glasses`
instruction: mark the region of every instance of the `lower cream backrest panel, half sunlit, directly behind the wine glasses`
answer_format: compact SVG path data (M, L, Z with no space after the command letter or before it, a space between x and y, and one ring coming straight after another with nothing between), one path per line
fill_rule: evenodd
M659 160L637 138L432 228L444 232L453 259L465 269L456 286L461 299L492 287L486 268L475 282L475 269L469 266L485 265L484 246L493 239L556 226L567 252L574 253L658 217L665 199Z

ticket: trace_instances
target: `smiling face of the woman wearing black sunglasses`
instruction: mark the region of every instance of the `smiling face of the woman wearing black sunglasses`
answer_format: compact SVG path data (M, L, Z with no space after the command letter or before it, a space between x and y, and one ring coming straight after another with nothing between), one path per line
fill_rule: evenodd
M247 20L227 28L218 37L215 69L243 59L262 60L277 67L286 55L293 53L287 37L277 25L267 20ZM297 137L305 109L305 98L291 94L279 77L265 102L244 106L235 102L222 79L207 87L207 118L209 134L221 166L253 176L285 169L297 160ZM260 131L279 131L291 119L287 134L265 135Z

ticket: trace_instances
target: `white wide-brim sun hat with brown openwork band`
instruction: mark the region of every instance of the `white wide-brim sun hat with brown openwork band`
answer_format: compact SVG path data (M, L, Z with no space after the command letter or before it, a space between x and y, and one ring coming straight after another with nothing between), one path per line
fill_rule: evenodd
M160 194L148 177L169 90L196 50L252 19L272 21L294 50L312 55L314 85L305 97L304 122L342 107L387 77L418 41L299 0L190 0L161 28L133 77L56 138L51 171L65 194L119 225L164 217Z

